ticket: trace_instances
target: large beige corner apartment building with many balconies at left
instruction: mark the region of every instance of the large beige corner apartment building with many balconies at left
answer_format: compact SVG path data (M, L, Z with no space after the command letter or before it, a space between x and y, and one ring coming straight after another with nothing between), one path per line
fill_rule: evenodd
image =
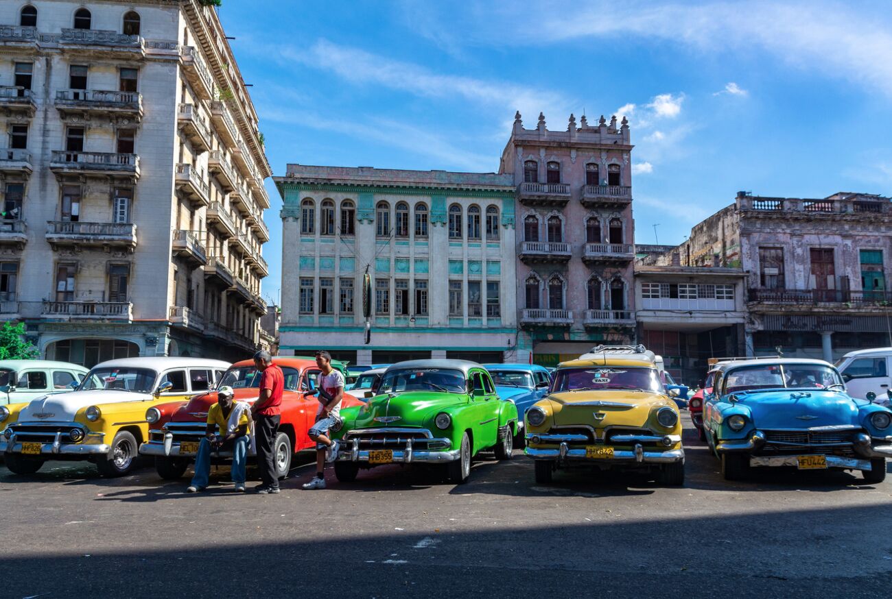
M0 318L42 356L257 346L271 171L214 8L0 4L0 131Z

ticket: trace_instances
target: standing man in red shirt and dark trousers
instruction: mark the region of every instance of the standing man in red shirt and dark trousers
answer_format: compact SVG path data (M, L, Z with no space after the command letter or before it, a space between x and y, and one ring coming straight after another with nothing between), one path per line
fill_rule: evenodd
M285 391L285 373L268 351L254 354L254 365L260 371L260 397L251 407L254 417L254 437L257 439L257 467L262 484L255 487L258 493L278 493L276 476L276 435L282 412L282 393Z

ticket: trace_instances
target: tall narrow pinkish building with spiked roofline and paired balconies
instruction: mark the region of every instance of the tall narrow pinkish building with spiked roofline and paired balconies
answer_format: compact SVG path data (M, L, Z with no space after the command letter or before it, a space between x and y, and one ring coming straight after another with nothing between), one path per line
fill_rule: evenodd
M517 186L518 361L634 341L632 147L625 119L549 131L516 114L500 173Z

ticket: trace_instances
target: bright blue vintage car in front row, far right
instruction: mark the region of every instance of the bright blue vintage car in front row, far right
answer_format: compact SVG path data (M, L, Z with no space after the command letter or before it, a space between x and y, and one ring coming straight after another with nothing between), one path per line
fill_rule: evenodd
M850 397L836 368L789 358L720 366L703 426L726 480L764 466L860 470L867 482L885 480L892 410Z

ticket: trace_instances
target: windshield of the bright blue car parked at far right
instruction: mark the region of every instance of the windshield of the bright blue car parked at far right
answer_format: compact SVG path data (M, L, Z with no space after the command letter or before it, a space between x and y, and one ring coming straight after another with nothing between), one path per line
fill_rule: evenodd
M838 373L820 364L766 364L735 368L725 375L723 393L760 389L826 389L841 385Z

